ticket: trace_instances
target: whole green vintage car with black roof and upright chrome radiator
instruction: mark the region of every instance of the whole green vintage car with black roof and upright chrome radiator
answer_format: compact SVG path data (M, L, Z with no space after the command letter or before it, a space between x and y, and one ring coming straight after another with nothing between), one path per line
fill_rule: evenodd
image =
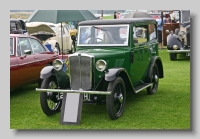
M105 104L115 120L123 114L127 93L146 89L154 94L164 77L157 23L153 18L80 22L77 51L68 62L67 73L60 59L41 71L43 83L36 90L41 91L43 112L49 116L60 111L63 93L81 93L83 103Z

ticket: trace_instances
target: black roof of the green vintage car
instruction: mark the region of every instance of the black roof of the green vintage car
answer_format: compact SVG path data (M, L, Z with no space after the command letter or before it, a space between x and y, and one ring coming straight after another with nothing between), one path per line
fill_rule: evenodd
M82 21L79 25L113 25L113 24L130 24L137 22L153 22L156 20L153 18L122 18L122 19L105 19L105 20L87 20Z

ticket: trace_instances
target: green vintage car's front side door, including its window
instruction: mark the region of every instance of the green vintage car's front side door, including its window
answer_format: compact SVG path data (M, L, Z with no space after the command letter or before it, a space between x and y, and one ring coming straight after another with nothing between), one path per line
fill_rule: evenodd
M149 51L147 39L147 26L133 26L133 46L131 53L134 62L131 64L130 78L134 85L144 82L144 73L147 71L149 64Z

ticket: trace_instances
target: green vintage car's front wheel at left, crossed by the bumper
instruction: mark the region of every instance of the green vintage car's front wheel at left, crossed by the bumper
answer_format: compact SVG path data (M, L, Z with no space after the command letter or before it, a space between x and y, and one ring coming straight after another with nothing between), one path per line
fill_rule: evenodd
M58 84L56 78L51 76L44 79L41 85L43 89L56 89ZM40 105L43 112L47 116L51 116L60 111L62 100L60 99L61 94L57 92L41 92L40 93Z

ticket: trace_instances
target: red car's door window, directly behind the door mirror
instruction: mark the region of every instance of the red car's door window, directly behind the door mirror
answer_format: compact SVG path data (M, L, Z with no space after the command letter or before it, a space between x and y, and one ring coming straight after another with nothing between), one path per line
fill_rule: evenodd
M19 37L18 38L18 46L17 46L17 52L18 55L23 55L24 54L24 50L30 50L31 53L33 53L33 50L31 48L30 42L28 38L23 38L23 37ZM20 51L21 50L21 53Z

